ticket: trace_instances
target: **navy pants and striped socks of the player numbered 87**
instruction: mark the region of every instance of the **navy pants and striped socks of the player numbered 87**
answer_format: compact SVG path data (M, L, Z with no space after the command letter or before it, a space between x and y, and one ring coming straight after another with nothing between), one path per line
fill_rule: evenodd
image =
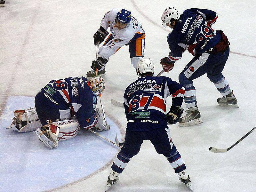
M163 154L175 173L182 172L186 169L185 163L172 142L169 128L158 128L145 132L126 131L124 146L118 153L112 164L112 170L117 173L122 173L130 159L137 155L140 151L140 146L143 140L150 140L154 145L156 152Z

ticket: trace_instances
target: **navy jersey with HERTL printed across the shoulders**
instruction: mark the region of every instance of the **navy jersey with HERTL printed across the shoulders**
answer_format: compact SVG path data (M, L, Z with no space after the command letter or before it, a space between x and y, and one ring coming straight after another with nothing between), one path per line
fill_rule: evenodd
M171 50L168 58L175 62L186 49L195 56L216 45L221 38L220 31L214 31L211 26L217 18L217 13L208 9L185 10L167 36Z

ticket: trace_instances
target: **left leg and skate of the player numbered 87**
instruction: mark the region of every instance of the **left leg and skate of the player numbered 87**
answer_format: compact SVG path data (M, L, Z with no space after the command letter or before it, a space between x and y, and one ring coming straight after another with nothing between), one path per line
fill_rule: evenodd
M130 159L139 153L142 143L143 138L141 132L126 131L124 146L111 166L112 170L108 176L107 190L119 180L118 175L123 172Z

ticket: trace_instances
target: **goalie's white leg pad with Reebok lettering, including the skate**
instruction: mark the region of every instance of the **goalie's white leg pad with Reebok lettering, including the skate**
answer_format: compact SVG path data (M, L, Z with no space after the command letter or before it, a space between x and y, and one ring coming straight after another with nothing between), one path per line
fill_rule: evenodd
M34 133L47 147L57 148L60 141L76 137L79 130L77 119L71 119L44 125Z

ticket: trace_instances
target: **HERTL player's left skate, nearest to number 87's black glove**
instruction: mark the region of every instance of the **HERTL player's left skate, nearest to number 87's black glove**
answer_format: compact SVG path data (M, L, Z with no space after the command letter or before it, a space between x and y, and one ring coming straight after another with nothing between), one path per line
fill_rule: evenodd
M179 126L196 125L203 123L197 107L188 108L187 114L179 119Z

